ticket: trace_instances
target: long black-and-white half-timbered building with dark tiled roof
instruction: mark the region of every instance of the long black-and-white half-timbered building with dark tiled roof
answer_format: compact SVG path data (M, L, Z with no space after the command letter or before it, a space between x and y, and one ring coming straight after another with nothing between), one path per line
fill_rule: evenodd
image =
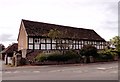
M57 29L62 32L61 42L58 38L48 36L50 30ZM67 45L66 47L56 47L57 45ZM93 45L97 49L105 48L105 40L92 29L76 28L36 22L30 20L21 21L18 35L18 50L24 54L30 53L30 50L52 51L52 50L79 50L84 45ZM26 52L27 51L27 52ZM29 51L29 52L28 52Z

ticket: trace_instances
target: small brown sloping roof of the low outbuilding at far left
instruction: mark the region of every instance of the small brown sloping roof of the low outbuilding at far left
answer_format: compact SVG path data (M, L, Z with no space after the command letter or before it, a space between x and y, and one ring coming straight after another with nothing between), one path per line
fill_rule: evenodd
M12 45L5 48L1 53L13 53L18 50L18 43L13 43Z

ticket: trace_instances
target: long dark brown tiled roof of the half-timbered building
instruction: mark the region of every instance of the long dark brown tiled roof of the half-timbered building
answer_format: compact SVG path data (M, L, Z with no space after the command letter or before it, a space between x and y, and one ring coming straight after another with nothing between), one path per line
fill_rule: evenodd
M28 36L46 36L51 29L57 29L64 33L65 36L63 36L63 38L105 41L92 29L76 28L24 19L22 19L22 22Z

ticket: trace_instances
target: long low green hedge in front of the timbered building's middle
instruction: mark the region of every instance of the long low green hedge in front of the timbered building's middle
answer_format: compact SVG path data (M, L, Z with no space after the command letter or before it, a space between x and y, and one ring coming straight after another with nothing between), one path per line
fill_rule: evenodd
M50 54L46 54L46 53L40 53L35 60L38 62L44 62L44 61L68 61L68 60L78 60L80 58L80 56L72 50L66 51L64 54L62 53L50 53Z

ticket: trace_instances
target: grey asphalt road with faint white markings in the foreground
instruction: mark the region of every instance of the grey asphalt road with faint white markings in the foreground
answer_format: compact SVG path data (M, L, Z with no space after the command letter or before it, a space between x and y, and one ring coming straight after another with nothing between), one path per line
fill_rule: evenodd
M6 67L3 80L118 80L118 62Z

